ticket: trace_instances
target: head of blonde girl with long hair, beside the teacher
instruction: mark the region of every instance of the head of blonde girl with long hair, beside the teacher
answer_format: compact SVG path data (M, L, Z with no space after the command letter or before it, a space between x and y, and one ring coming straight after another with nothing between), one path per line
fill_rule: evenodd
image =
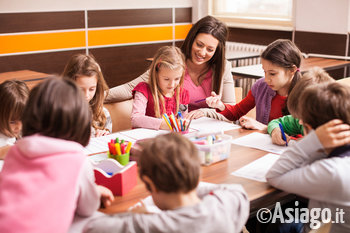
M161 117L161 114L165 112L163 96L171 97L176 94L176 112L178 112L184 73L185 61L179 48L164 46L154 55L150 68L149 84L155 103L156 117ZM159 103L163 109L159 108Z

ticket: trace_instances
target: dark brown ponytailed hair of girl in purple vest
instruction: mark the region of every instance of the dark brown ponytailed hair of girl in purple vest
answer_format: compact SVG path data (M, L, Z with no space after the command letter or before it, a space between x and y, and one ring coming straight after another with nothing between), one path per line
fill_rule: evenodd
M266 47L261 54L261 58L285 69L295 69L295 67L300 69L302 55L298 47L292 41L278 39ZM288 96L300 77L300 70L297 70L289 86ZM289 97L287 97L287 99L288 98ZM282 109L282 113L283 115L289 114L287 106Z

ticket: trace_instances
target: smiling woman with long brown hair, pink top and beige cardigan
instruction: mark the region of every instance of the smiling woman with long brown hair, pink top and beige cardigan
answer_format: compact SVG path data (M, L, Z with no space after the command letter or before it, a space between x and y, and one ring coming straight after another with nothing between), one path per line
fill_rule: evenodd
M190 118L203 116L227 120L215 109L208 108L205 100L214 91L224 103L235 104L235 89L231 63L225 59L225 43L228 29L224 23L206 16L195 23L186 36L181 50L186 58L184 89L190 93ZM132 98L132 90L140 82L147 82L149 71L126 84L109 90L106 102Z

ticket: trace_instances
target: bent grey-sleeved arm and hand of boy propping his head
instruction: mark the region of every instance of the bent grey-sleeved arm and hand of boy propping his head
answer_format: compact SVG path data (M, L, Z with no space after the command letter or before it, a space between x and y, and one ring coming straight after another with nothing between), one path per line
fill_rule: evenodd
M324 159L324 148L349 143L349 128L336 120L312 131L281 155L267 173L267 181L287 192L329 201L334 192L339 192L336 186L341 177L335 161Z

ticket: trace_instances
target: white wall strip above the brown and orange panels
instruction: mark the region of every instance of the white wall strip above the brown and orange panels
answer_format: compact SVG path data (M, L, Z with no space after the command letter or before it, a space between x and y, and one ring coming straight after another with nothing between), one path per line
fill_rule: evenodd
M192 0L0 0L0 13L170 7L192 7Z

